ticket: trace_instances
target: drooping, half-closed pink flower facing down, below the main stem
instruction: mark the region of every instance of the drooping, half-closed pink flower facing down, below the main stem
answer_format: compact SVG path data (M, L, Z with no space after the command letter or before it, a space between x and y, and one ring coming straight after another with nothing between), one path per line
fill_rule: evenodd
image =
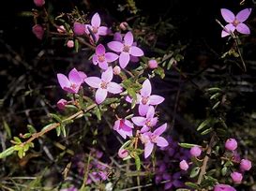
M133 124L126 119L119 119L114 122L113 130L116 130L124 139L132 136Z

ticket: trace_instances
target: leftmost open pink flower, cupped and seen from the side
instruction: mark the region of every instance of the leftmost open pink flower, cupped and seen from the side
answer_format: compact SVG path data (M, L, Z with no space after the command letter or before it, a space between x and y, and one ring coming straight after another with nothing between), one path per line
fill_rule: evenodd
M83 72L79 72L76 68L73 68L69 74L68 78L64 74L57 74L57 78L61 88L68 93L77 94L81 84L86 78L86 75Z

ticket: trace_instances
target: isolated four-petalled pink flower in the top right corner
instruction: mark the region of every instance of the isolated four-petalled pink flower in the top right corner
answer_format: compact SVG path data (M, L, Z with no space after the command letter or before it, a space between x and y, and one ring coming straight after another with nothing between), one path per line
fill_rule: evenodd
M248 16L251 12L251 8L245 8L238 12L236 16L234 16L233 12L226 8L221 8L221 15L226 22L229 22L225 26L225 30L222 30L221 37L227 37L237 30L241 34L250 34L248 26L243 23L248 19Z

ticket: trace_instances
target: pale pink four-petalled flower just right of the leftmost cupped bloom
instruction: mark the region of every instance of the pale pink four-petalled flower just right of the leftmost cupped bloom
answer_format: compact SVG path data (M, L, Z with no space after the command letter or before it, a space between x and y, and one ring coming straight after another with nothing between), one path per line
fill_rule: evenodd
M102 103L108 92L112 94L120 94L122 92L122 86L112 82L113 79L113 68L111 66L101 74L101 79L98 77L88 77L84 81L91 87L97 88L96 91L96 102Z

